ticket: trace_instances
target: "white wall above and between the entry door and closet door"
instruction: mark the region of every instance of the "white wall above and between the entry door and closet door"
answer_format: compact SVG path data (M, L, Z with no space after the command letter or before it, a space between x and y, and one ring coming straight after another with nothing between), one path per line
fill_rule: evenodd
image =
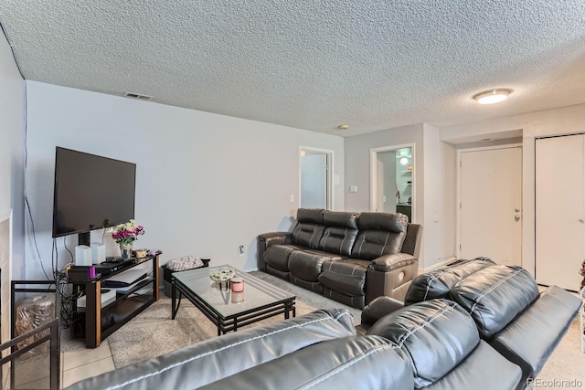
M585 104L441 128L441 141L522 131L522 266L535 271L535 139L585 132ZM551 237L554 239L554 237Z

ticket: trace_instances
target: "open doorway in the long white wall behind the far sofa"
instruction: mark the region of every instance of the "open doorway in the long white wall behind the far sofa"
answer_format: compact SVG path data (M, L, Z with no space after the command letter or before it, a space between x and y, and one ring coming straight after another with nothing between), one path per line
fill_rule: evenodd
M333 151L301 147L299 150L299 205L331 210Z

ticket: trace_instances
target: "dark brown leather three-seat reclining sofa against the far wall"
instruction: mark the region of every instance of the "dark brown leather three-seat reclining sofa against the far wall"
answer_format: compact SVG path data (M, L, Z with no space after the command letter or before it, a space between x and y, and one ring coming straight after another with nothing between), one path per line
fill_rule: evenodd
M299 208L293 232L258 237L259 269L362 309L398 300L418 273L422 227L407 216Z

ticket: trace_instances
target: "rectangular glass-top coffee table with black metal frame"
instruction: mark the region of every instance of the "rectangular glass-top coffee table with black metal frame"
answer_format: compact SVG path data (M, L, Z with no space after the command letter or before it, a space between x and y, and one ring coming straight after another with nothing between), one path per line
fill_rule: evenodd
M244 289L234 292L228 282L215 282L212 272L233 269L235 277L244 280ZM239 327L279 314L288 319L296 316L296 296L264 280L229 266L190 269L174 272L171 276L173 320L179 310L182 296L190 300L206 317L218 326L218 335L238 331Z

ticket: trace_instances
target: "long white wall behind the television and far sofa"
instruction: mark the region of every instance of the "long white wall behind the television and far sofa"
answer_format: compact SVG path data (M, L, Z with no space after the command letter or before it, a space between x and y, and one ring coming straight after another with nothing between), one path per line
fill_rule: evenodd
M134 247L162 249L162 263L193 255L255 269L257 235L289 228L296 215L300 145L335 152L335 209L343 209L341 137L34 81L27 111L27 193L49 268L56 146L137 164L135 216L146 233ZM63 238L57 245L64 264ZM35 257L27 251L27 276L39 273Z

